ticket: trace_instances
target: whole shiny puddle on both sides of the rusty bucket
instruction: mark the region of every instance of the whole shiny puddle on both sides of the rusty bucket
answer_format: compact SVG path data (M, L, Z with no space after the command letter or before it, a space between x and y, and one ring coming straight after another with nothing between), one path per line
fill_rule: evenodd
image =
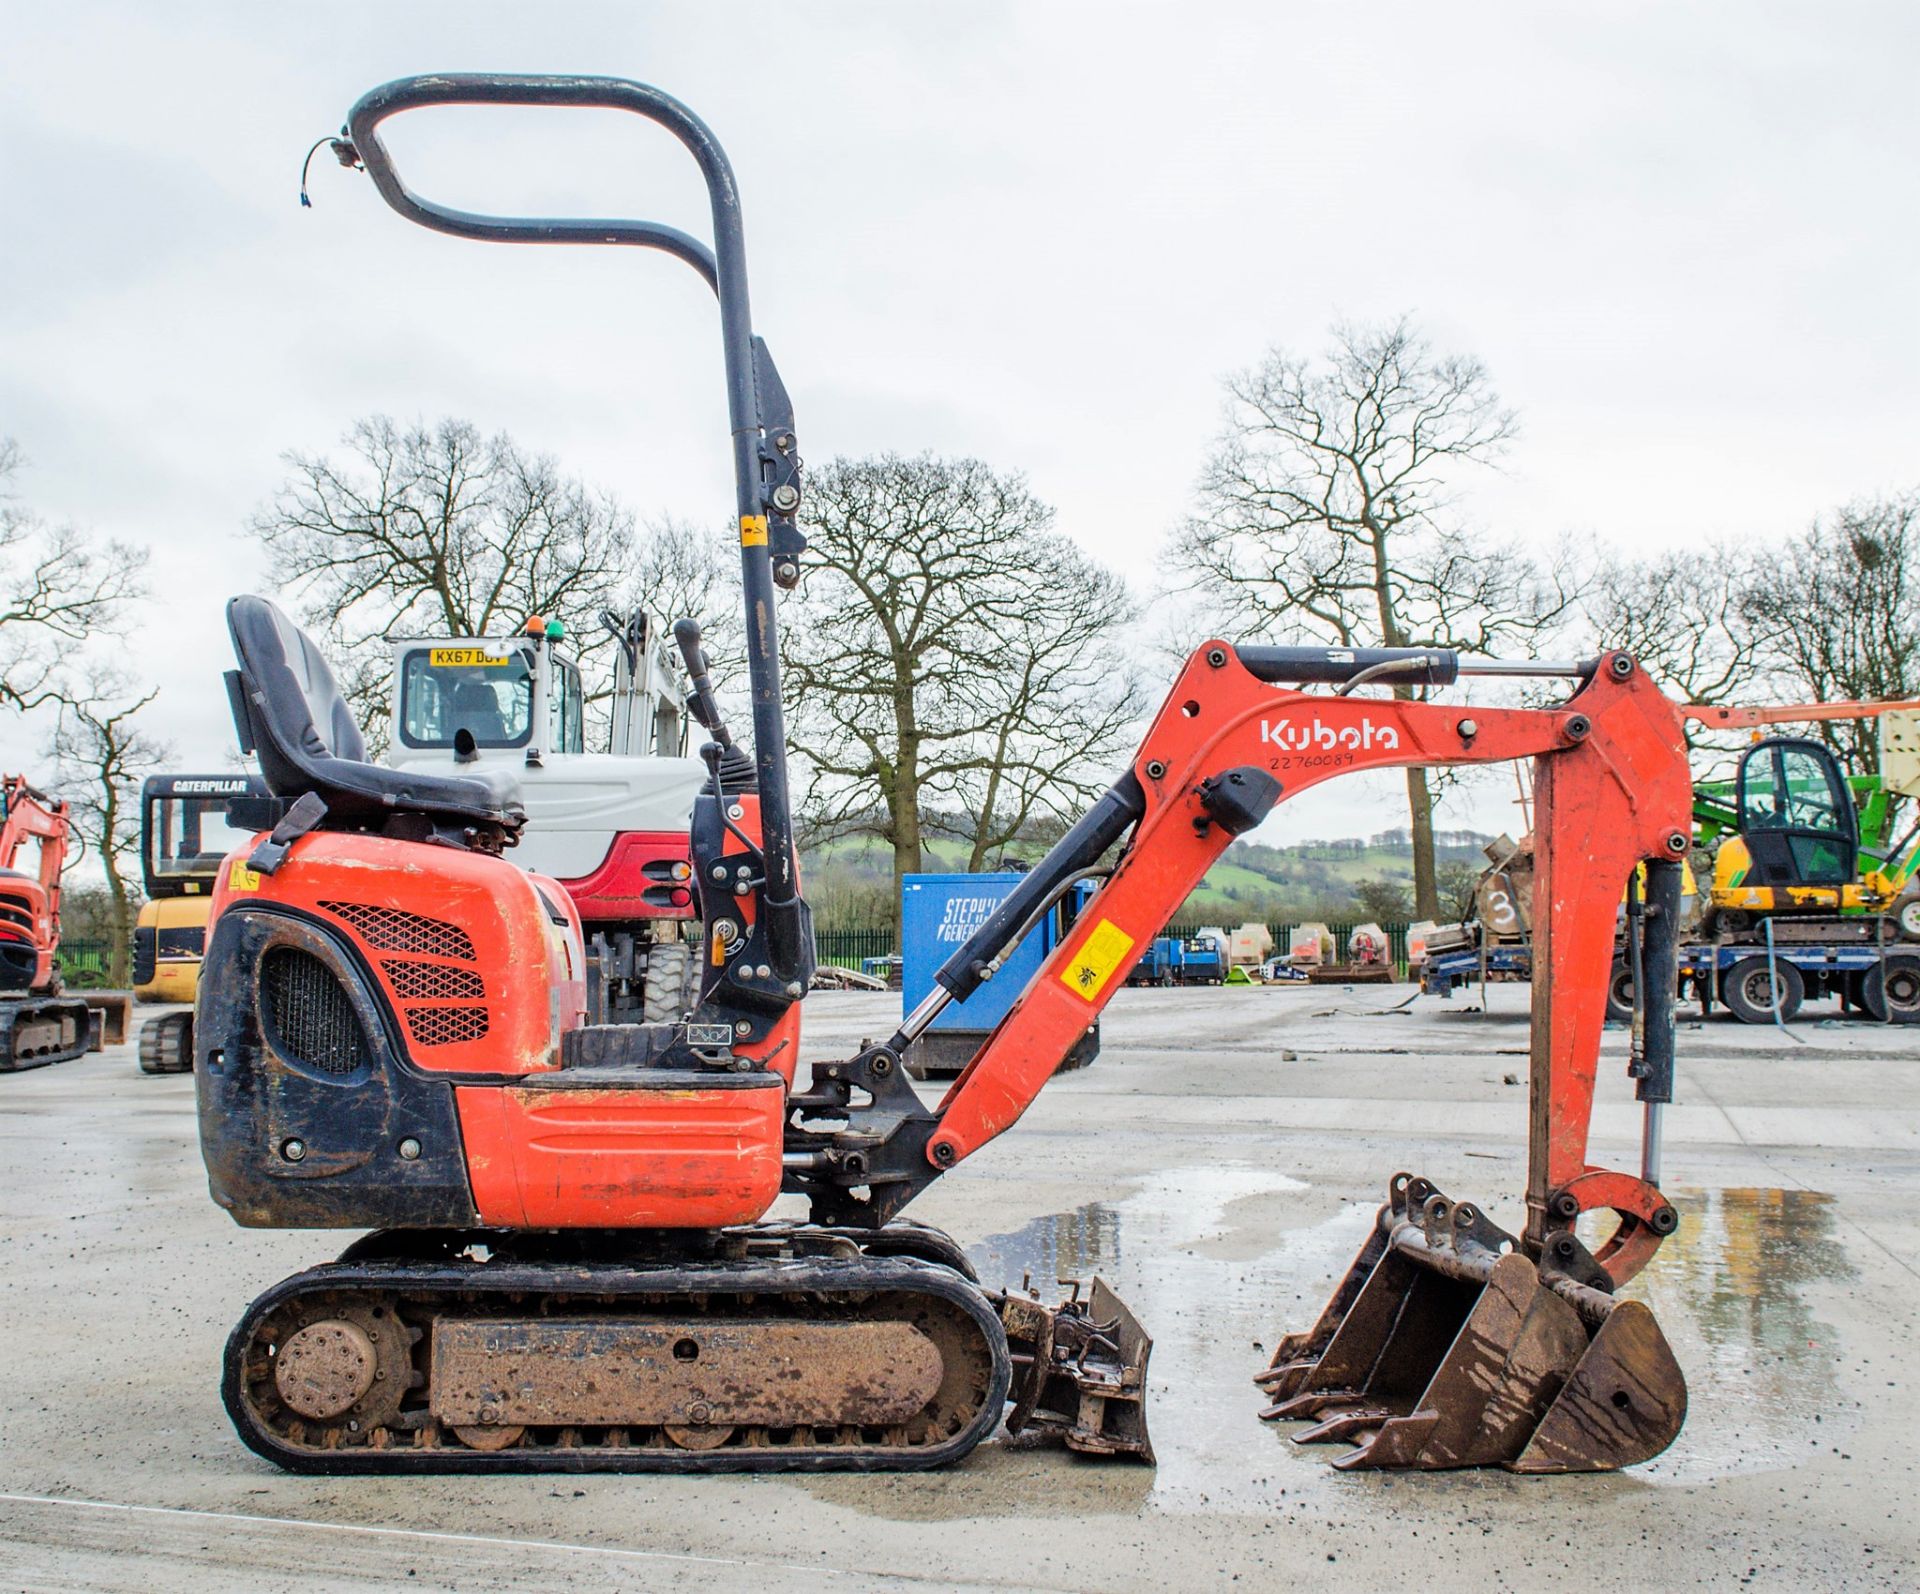
M1832 1198L1809 1191L1676 1191L1682 1225L1632 1294L1661 1319L1690 1387L1674 1446L1626 1481L1705 1483L1793 1465L1857 1423L1839 1389L1839 1344L1809 1289L1853 1277ZM1283 1333L1306 1329L1346 1273L1373 1202L1329 1210L1323 1191L1263 1168L1181 1168L1123 1200L1087 1202L970 1246L987 1289L1058 1300L1060 1277L1100 1273L1154 1337L1152 1471L1052 1448L989 1442L962 1469L889 1481L826 1479L835 1504L902 1519L1267 1511L1394 1486L1390 1473L1336 1473L1342 1446L1296 1446L1258 1419L1252 1377ZM1814 1421L1820 1417L1820 1421ZM1404 1475L1400 1475L1404 1481ZM1428 1502L1526 1488L1500 1473L1427 1473ZM1284 1490L1284 1494L1283 1494Z

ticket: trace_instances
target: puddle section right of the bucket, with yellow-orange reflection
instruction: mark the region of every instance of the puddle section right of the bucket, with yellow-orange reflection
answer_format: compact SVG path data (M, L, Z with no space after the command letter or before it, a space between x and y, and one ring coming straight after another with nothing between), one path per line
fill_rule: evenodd
M1636 1469L1663 1483L1768 1471L1853 1433L1841 1346L1807 1289L1855 1277L1820 1191L1672 1191L1680 1229L1632 1287L1688 1379L1672 1448Z

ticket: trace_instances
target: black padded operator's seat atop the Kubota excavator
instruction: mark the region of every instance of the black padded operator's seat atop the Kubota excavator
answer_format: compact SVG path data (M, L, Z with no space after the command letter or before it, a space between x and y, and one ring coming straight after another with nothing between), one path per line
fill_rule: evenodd
M324 655L265 597L232 599L227 628L240 659L227 678L234 728L240 745L259 755L275 797L319 797L328 828L357 828L401 812L445 826L499 826L509 833L526 822L511 770L438 776L369 762L367 741Z

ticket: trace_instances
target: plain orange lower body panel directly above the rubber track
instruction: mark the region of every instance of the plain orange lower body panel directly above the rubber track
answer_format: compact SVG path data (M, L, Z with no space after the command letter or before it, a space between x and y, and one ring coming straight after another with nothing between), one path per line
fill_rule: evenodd
M620 1085L455 1091L484 1223L507 1229L720 1229L780 1195L787 1087Z

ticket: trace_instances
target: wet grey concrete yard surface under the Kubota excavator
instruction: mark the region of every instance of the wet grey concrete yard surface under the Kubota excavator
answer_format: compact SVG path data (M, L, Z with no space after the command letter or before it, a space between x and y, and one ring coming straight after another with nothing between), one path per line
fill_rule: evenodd
M1004 1437L939 1473L307 1479L234 1437L221 1346L346 1233L234 1227L190 1077L132 1049L0 1077L0 1588L1912 1588L1920 1027L1684 1022L1632 1292L1692 1410L1619 1475L1338 1473L1250 1379L1407 1168L1521 1223L1526 989L1125 991L912 1216L989 1287L1106 1277L1154 1335L1158 1467ZM899 997L824 993L806 1054ZM1592 1160L1638 1168L1609 1029ZM931 1091L935 1087L922 1087ZM781 1204L785 1210L787 1202Z

